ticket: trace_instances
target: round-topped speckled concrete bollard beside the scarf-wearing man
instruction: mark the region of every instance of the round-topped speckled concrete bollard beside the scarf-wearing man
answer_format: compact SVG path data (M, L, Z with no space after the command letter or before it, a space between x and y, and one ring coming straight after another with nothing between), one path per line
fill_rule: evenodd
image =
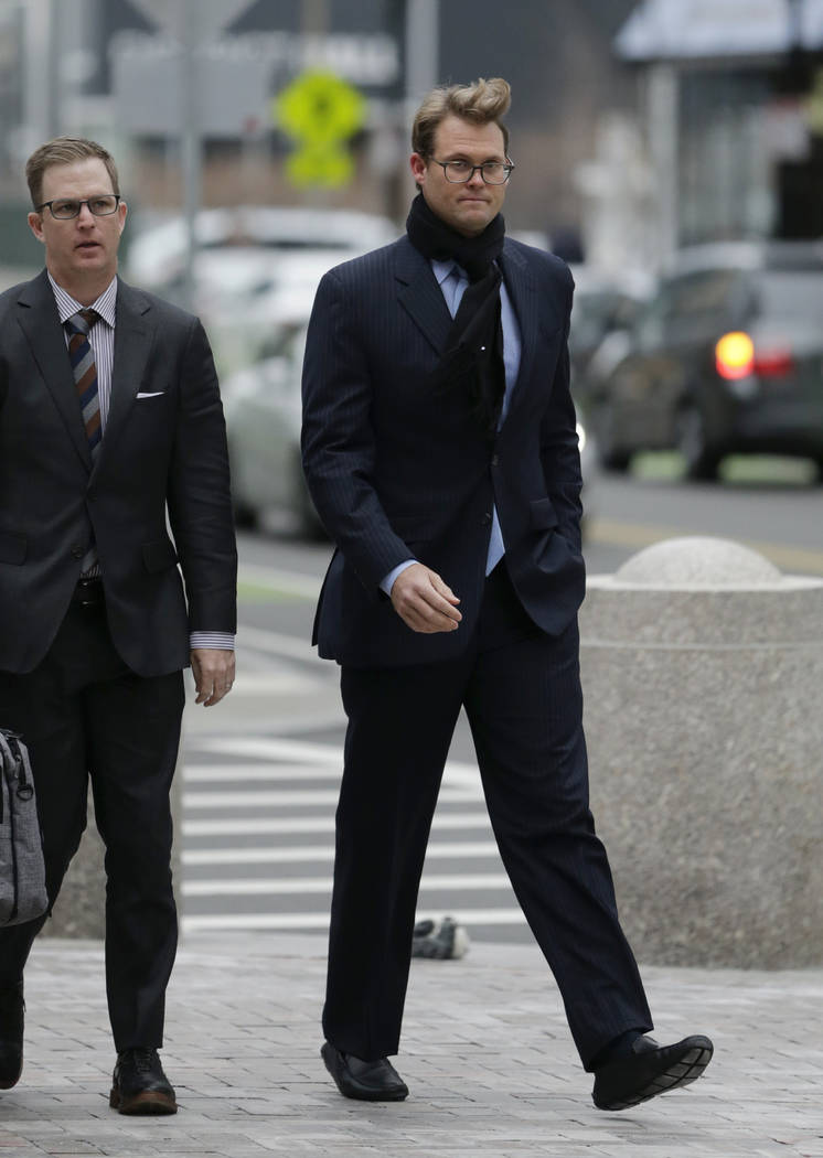
M823 965L823 580L667 540L581 611L591 799L641 961Z

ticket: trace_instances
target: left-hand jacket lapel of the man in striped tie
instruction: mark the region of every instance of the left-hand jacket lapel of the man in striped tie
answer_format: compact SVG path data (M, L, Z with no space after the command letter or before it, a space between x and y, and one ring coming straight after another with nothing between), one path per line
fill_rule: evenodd
M88 447L80 403L74 386L72 365L68 360L66 337L57 313L57 302L45 270L27 283L17 298L20 325L31 347L31 353L41 372L66 431L87 470L92 469L92 452Z

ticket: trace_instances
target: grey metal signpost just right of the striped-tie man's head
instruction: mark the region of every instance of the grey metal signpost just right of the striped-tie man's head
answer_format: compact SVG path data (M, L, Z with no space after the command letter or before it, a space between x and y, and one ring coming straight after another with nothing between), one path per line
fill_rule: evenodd
M184 19L181 29L181 160L183 177L183 220L187 244L183 269L183 303L195 309L195 255L197 252L197 214L201 208L202 138L198 107L198 47L199 15L197 0L183 0Z

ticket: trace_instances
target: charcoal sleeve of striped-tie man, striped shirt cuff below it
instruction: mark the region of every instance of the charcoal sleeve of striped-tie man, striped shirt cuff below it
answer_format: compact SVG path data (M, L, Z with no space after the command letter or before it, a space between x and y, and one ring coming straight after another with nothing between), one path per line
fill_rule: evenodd
M168 512L192 632L236 630L238 555L226 424L203 327L191 320L181 360Z

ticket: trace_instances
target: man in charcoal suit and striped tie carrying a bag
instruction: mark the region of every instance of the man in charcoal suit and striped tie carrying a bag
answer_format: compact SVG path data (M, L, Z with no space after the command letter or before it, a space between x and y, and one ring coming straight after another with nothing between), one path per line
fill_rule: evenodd
M117 277L126 205L110 154L57 138L27 177L46 267L0 296L0 723L31 754L51 903L90 778L105 843L110 1105L169 1114L158 1048L177 937L182 669L206 706L234 679L223 408L199 322ZM0 930L0 1089L22 1071L23 967L44 921Z

